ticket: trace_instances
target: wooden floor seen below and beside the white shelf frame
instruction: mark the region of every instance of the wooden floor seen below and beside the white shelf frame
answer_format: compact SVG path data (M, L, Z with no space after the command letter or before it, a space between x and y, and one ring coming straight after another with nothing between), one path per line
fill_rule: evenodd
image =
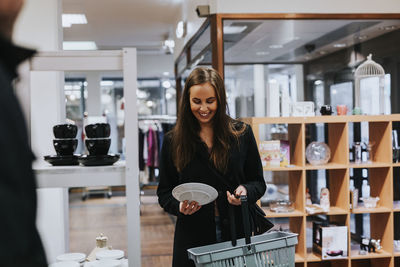
M126 198L90 197L70 194L70 251L87 255L95 247L100 233L108 245L127 253ZM142 267L169 267L172 262L174 224L154 196L141 197Z

